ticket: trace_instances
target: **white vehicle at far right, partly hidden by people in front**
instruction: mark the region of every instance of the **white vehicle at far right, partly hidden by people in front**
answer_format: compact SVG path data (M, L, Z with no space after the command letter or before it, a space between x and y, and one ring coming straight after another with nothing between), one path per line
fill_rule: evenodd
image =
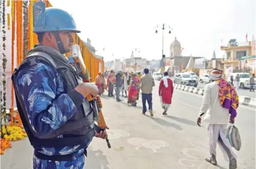
M236 85L237 74L239 74L240 76L240 88L250 88L250 77L251 77L250 73L232 73L231 75L233 75L234 85ZM228 82L231 82L230 77L228 77ZM254 88L255 88L255 79L254 79Z

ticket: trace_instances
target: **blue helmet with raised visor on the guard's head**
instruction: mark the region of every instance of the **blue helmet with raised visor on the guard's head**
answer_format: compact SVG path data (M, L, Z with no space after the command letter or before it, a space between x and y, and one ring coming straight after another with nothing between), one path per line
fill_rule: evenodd
M47 7L42 1L33 5L33 32L73 31L80 33L76 28L73 17L68 12L55 7Z

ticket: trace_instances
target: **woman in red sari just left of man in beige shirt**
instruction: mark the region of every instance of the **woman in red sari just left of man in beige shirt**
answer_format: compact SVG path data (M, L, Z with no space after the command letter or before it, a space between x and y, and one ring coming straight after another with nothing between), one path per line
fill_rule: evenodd
M139 96L139 79L135 73L131 74L131 82L128 92L128 102L131 106L136 107Z

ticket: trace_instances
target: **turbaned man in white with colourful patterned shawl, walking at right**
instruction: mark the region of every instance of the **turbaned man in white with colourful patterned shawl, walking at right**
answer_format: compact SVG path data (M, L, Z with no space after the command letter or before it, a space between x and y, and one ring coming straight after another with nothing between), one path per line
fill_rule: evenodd
M216 146L220 146L225 160L229 162L229 168L237 168L237 157L232 150L225 130L228 122L234 123L237 115L238 96L234 87L221 78L222 70L213 69L209 73L212 83L205 86L203 104L201 106L197 124L200 126L201 118L208 123L208 141L210 157L207 162L217 165Z

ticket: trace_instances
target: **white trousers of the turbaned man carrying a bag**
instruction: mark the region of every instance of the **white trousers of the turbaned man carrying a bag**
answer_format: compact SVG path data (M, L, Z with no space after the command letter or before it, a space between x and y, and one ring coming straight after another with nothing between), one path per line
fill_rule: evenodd
M218 146L220 146L225 160L229 162L229 159L237 159L237 157L232 150L228 138L225 136L226 126L225 124L209 124L208 139L210 156L212 157L212 154L216 156L216 146L218 142Z

